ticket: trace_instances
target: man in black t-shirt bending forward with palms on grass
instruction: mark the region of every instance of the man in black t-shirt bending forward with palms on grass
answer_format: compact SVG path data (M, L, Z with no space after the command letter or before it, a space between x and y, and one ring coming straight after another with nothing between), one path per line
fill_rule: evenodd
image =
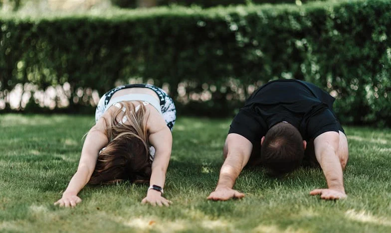
M232 187L247 163L264 165L281 175L303 160L319 163L328 185L311 195L346 198L343 170L349 157L348 141L333 113L334 100L315 85L298 80L271 81L256 90L232 120L223 148L225 161L208 199L244 197Z

